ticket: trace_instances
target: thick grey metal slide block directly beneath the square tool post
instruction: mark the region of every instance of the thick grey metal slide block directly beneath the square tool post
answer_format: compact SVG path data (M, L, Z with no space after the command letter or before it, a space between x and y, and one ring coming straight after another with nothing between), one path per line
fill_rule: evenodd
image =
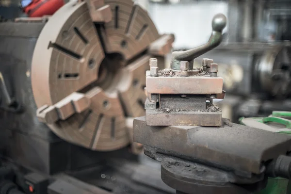
M146 125L146 117L139 117L134 120L133 128L133 141L154 147L153 152L236 172L260 174L262 162L291 150L290 136L237 124L232 127L154 127Z

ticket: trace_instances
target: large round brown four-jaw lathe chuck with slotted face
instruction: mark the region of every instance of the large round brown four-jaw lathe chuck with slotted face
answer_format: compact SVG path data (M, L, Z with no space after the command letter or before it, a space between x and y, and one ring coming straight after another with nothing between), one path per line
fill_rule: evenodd
M97 20L104 25L95 26ZM128 145L126 117L145 114L151 58L146 49L159 37L146 11L131 0L65 4L50 17L34 49L38 118L79 146L110 151Z

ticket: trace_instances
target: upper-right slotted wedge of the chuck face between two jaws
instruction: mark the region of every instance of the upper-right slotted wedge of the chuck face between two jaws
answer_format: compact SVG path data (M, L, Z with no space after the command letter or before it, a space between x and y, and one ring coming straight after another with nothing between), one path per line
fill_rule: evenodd
M113 12L112 21L105 24L108 53L119 52L129 60L160 37L147 12L132 0L105 0L105 4Z

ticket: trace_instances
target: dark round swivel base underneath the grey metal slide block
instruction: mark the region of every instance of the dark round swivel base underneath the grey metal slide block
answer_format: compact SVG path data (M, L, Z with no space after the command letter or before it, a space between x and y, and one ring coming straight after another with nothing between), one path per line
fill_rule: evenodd
M162 158L162 180L179 192L187 194L252 194L266 185L266 179L262 175L246 180L196 162L162 154L156 154L156 157Z

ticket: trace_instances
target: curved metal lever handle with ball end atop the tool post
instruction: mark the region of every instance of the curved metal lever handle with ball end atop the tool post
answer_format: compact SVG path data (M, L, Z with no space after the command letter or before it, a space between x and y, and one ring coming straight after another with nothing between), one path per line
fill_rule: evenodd
M194 58L217 47L222 41L222 30L226 27L226 16L217 14L212 19L212 33L209 41L194 49L175 51L172 53L171 68L179 69L180 61L192 61Z

